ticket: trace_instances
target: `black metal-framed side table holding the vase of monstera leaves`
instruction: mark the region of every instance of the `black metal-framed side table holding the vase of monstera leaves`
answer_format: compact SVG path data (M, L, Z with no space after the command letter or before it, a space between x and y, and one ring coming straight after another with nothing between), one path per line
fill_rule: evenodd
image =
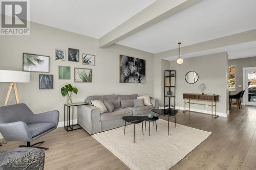
M77 129L81 129L81 127L74 129L74 126L77 126L78 124L74 125L74 106L82 106L82 105L89 105L89 103L86 102L80 102L80 103L71 103L71 104L65 104L64 105L64 128L66 131L73 131ZM66 126L66 106L67 106L67 126ZM72 107L72 124L70 124L70 108Z

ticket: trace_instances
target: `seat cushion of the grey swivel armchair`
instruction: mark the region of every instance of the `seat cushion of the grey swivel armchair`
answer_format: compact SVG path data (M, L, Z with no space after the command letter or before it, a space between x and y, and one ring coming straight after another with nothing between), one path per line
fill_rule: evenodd
M55 124L52 124L52 123L29 124L28 127L32 137L35 137L52 128L55 128Z

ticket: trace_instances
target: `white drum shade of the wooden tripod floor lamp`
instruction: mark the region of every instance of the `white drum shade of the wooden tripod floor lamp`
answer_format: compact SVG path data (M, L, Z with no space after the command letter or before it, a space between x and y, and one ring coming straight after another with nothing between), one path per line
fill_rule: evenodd
M9 83L29 83L30 72L13 71L13 70L0 70L0 82Z

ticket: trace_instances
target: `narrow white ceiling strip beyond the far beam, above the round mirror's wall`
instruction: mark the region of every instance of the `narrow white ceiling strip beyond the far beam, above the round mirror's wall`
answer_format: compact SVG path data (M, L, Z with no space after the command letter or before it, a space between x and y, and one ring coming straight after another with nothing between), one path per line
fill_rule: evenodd
M229 46L224 46L224 47L215 48L215 49L211 49L211 50L185 54L185 55L181 55L181 57L183 59L186 59L186 58L191 58L191 57L204 56L204 55L222 53L222 52L228 53L229 60L238 59L238 58L246 58L246 57L254 57L254 56L256 56L256 41L250 41L250 42L246 42L246 43L229 45ZM177 56L167 57L164 59L169 60L169 61L177 60L178 53L179 52L177 50ZM181 53L182 53L182 51L181 51Z

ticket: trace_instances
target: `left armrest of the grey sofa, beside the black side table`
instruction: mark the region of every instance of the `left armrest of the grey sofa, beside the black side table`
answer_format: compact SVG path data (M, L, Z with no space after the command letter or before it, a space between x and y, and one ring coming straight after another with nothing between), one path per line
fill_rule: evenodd
M101 132L99 108L92 105L77 106L77 123L90 135Z

